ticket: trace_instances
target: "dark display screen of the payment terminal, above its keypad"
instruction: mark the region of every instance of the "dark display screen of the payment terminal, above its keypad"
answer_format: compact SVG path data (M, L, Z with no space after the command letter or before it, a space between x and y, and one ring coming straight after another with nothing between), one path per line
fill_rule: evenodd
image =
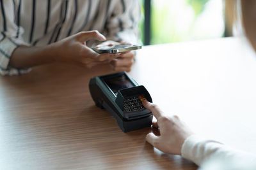
M104 81L115 95L117 95L118 90L134 87L125 74L113 78L106 78Z

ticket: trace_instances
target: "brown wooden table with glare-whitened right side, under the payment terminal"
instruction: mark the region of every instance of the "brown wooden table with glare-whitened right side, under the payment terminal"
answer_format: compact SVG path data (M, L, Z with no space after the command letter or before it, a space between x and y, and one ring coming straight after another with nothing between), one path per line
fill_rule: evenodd
M84 69L51 64L0 78L0 169L196 169L122 132L90 97ZM198 134L256 153L256 57L241 39L146 46L131 76Z

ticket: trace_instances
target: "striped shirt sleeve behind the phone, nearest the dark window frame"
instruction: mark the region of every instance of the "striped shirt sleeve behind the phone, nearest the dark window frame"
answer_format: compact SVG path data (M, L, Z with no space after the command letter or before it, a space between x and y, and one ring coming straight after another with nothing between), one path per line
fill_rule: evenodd
M107 38L137 44L139 39L138 23L141 6L137 0L116 0L114 10L106 20Z

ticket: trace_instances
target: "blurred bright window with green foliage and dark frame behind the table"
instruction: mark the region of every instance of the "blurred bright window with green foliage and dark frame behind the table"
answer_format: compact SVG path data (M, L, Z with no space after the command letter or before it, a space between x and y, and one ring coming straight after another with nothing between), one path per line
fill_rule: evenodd
M232 1L232 0L230 0ZM141 0L144 45L230 36L223 0ZM226 12L225 12L226 11Z

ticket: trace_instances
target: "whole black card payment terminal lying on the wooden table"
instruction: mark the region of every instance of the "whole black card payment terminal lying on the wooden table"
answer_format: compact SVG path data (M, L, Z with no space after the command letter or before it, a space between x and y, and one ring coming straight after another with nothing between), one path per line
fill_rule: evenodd
M96 76L90 80L89 89L96 106L111 113L122 131L134 131L152 124L152 113L141 103L144 99L152 102L150 94L127 73Z

